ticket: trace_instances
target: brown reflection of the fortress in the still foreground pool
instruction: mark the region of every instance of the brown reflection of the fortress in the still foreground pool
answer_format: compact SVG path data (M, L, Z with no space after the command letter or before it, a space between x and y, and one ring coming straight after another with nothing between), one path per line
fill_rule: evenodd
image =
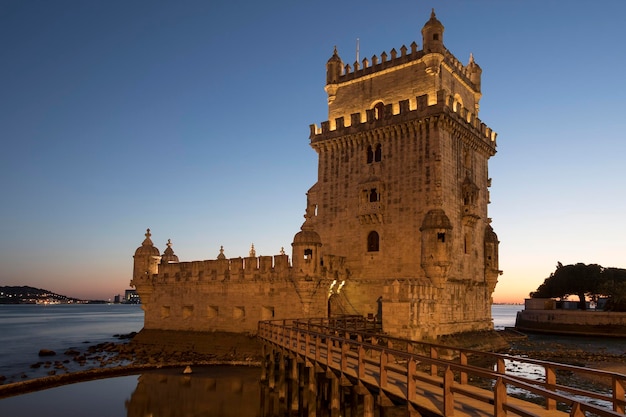
M261 381L258 368L219 366L142 374L126 401L128 417L376 417L405 416L406 407L381 407L371 394L317 374Z

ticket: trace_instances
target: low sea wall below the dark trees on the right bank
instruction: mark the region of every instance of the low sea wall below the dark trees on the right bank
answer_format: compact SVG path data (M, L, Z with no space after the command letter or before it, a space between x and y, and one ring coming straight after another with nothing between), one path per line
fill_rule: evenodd
M517 313L515 328L538 333L626 337L626 313L525 309Z

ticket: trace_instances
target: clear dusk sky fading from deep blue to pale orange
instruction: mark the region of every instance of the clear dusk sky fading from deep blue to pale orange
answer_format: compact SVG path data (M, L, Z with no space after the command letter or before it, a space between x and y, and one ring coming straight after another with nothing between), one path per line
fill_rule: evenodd
M0 0L0 286L123 294L147 228L181 261L291 254L333 48L421 46L431 8L498 133L494 301L626 268L622 0Z

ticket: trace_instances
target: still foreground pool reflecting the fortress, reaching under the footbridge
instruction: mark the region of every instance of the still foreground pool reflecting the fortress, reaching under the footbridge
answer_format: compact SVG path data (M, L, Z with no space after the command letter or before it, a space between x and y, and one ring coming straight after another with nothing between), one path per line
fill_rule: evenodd
M308 368L307 368L308 369ZM160 369L50 388L0 400L0 416L326 417L406 415L379 407L356 386L324 373L261 382L261 369L236 366ZM314 377L313 377L314 376ZM378 401L377 401L378 403ZM369 412L365 410L370 410Z

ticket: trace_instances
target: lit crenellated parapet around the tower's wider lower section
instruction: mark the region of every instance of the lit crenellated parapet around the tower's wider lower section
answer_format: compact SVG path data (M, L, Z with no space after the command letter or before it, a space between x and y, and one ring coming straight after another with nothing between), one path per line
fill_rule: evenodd
M383 114L379 118L376 118L375 109L367 109L364 113L351 114L349 124L346 123L344 117L338 117L332 122L322 122L320 127L312 124L309 126L309 139L311 140L311 145L314 145L328 139L355 134L365 128L389 126L441 113L461 123L465 123L486 144L493 148L496 147L497 133L485 125L475 113L462 107L445 90L439 90L436 97L425 94L417 96L415 99L402 100L397 104L387 104L384 106Z

